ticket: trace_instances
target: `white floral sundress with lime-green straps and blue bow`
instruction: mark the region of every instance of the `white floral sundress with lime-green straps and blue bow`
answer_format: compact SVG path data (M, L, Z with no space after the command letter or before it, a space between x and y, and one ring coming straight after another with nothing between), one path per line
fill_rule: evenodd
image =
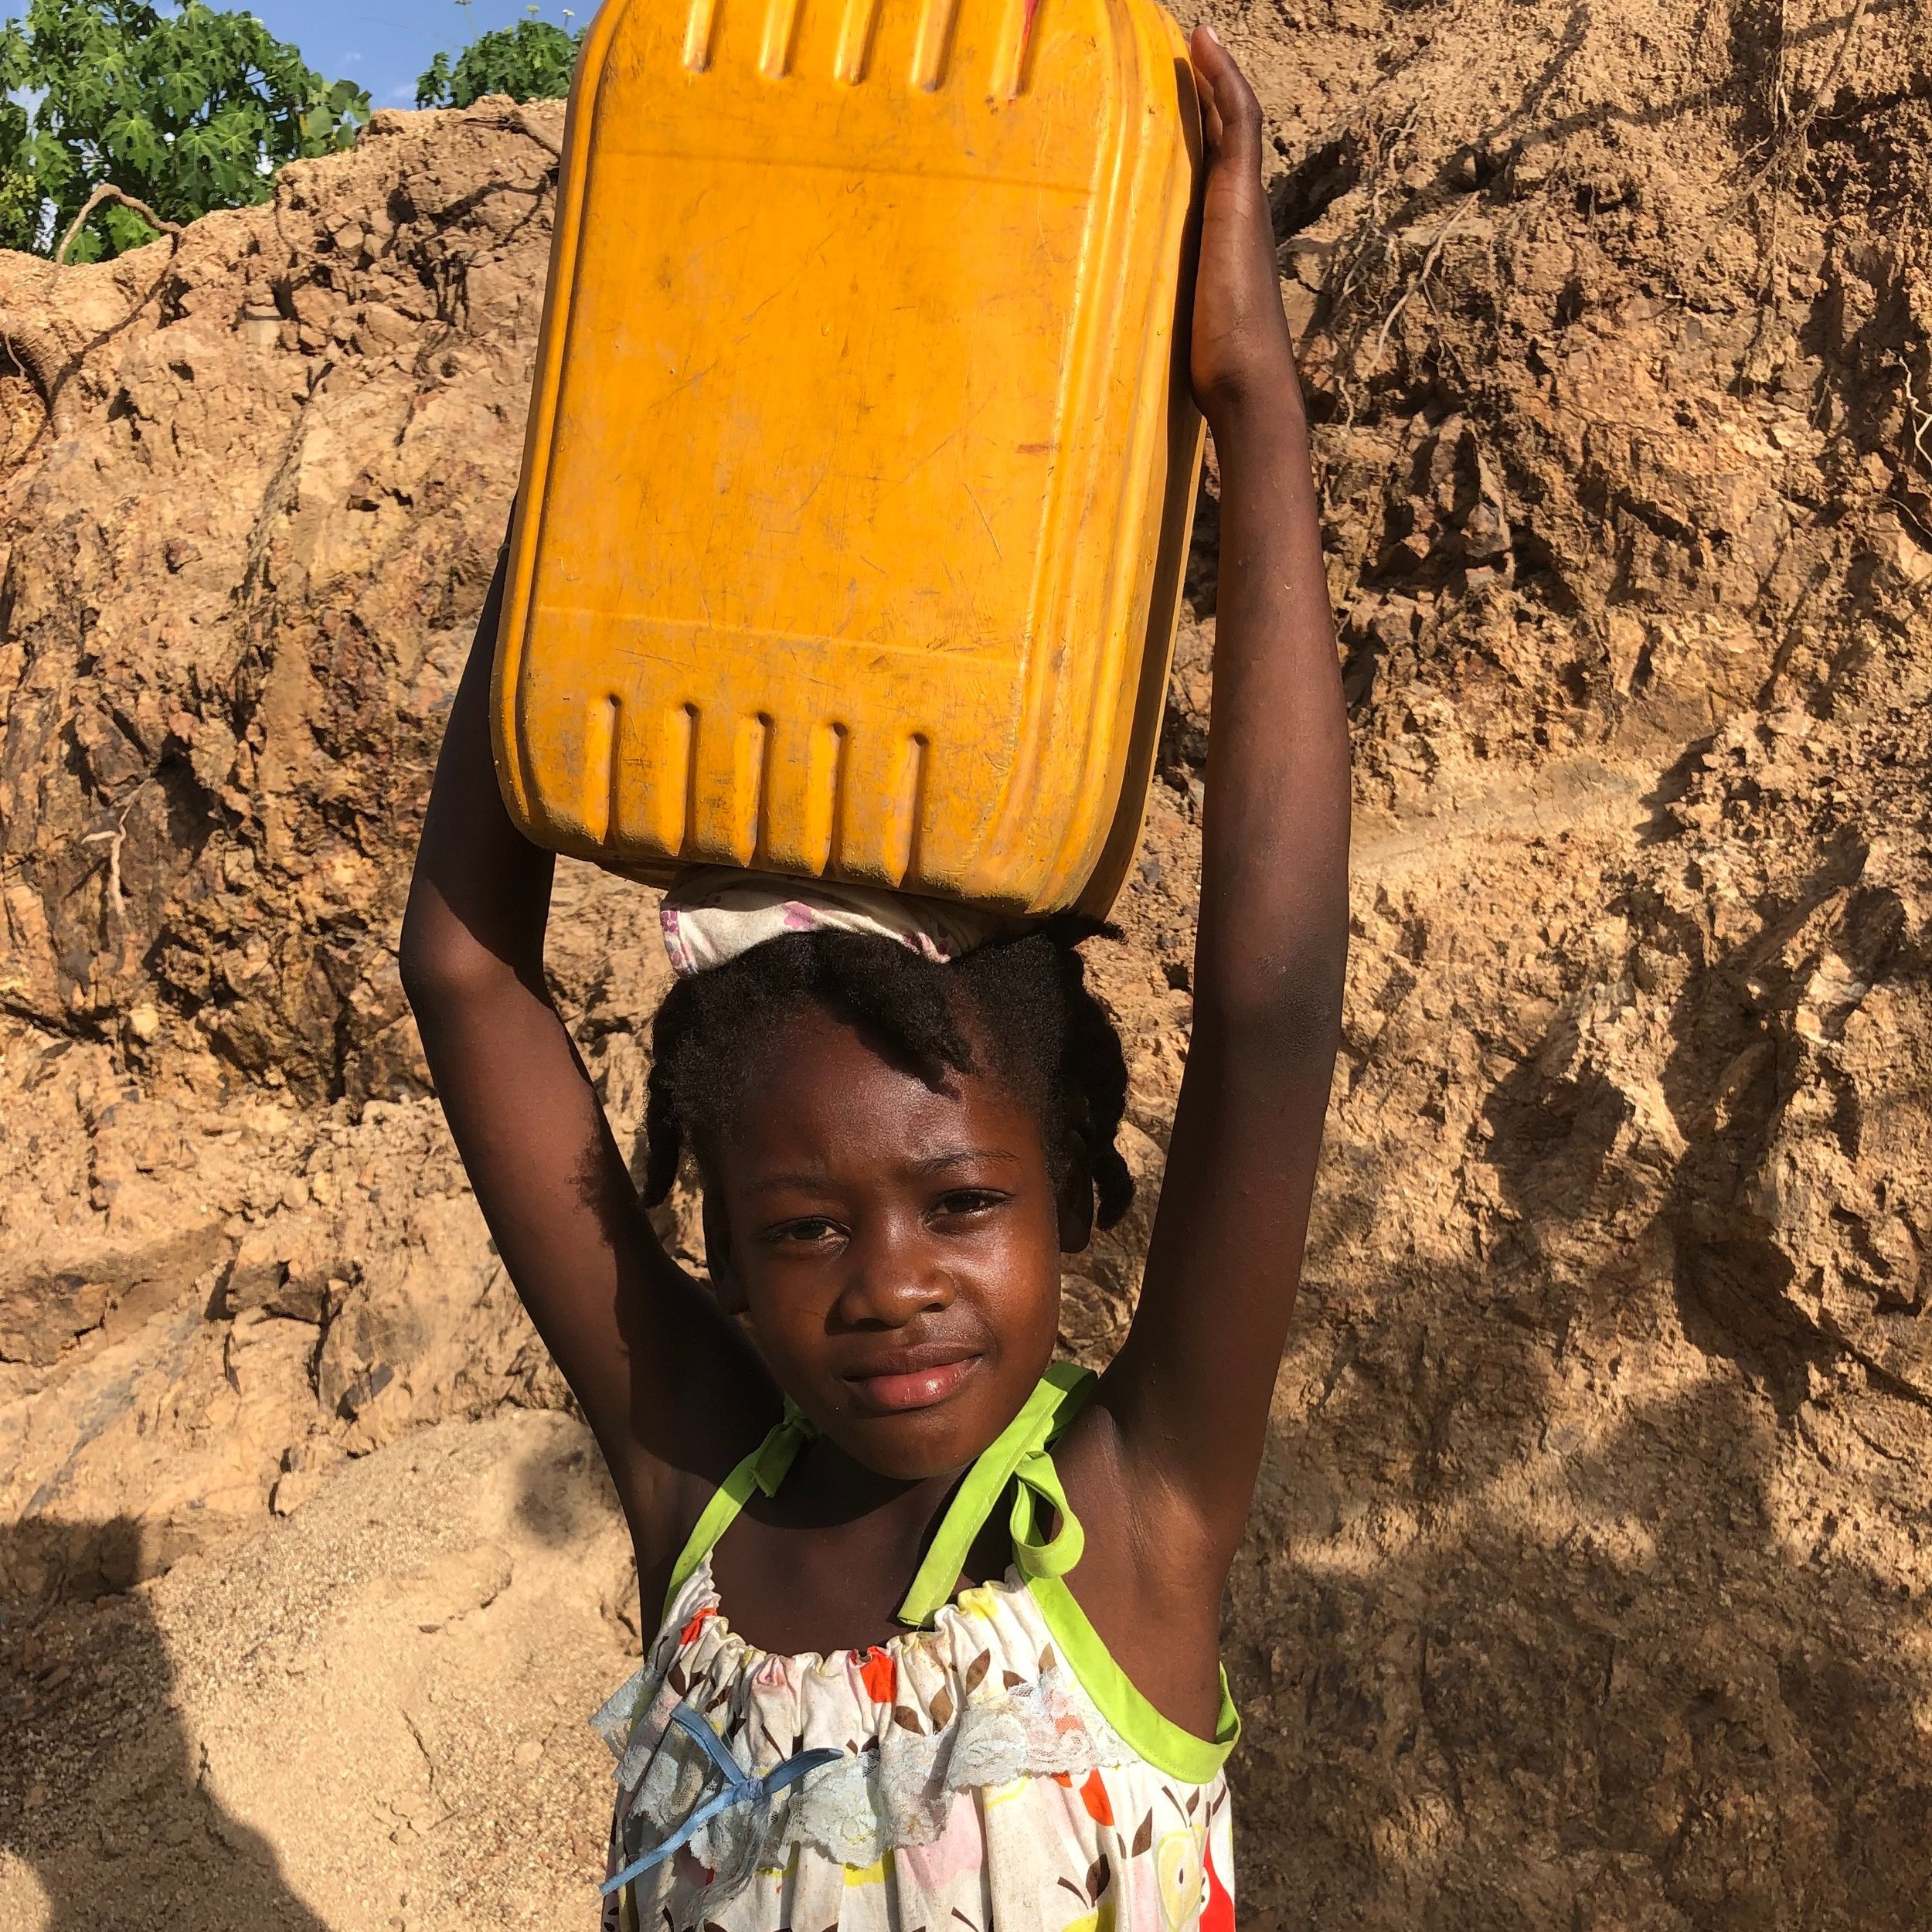
M1215 1737L1182 1731L1063 1582L1082 1532L1049 1451L1094 1379L1055 1364L968 1472L900 1607L916 1627L823 1658L748 1644L711 1582L810 1437L786 1408L593 1719L618 1760L605 1932L1235 1932L1227 1677ZM951 1596L1009 1490L1012 1567Z

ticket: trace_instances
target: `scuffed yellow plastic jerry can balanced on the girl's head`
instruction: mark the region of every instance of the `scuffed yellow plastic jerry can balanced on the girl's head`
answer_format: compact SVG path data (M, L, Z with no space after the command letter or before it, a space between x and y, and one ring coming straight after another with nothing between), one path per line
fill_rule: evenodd
M497 649L531 838L1113 902L1200 469L1198 155L1153 0L607 0Z

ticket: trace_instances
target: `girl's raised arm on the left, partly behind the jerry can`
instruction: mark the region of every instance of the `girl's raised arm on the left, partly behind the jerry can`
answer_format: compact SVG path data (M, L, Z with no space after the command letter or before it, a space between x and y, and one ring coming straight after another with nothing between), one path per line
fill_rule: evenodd
M554 860L510 823L491 755L502 587L498 562L423 819L402 983L497 1252L597 1432L647 1561L757 1439L777 1395L651 1233L545 987Z

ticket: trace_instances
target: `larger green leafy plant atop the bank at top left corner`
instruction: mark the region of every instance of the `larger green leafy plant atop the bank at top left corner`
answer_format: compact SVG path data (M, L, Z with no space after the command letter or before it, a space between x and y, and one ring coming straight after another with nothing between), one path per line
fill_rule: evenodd
M286 160L348 147L369 97L330 85L251 14L184 0L31 0L0 27L0 242L50 253L95 187L112 184L164 222L267 201ZM155 240L106 205L71 261Z

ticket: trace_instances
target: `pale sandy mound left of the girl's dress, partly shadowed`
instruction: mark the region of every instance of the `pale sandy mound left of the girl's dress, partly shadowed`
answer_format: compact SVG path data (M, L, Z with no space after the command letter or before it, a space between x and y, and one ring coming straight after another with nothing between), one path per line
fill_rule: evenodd
M636 1667L622 1584L585 1430L508 1410L46 1619L0 1926L595 1924L611 1760L585 1719Z

